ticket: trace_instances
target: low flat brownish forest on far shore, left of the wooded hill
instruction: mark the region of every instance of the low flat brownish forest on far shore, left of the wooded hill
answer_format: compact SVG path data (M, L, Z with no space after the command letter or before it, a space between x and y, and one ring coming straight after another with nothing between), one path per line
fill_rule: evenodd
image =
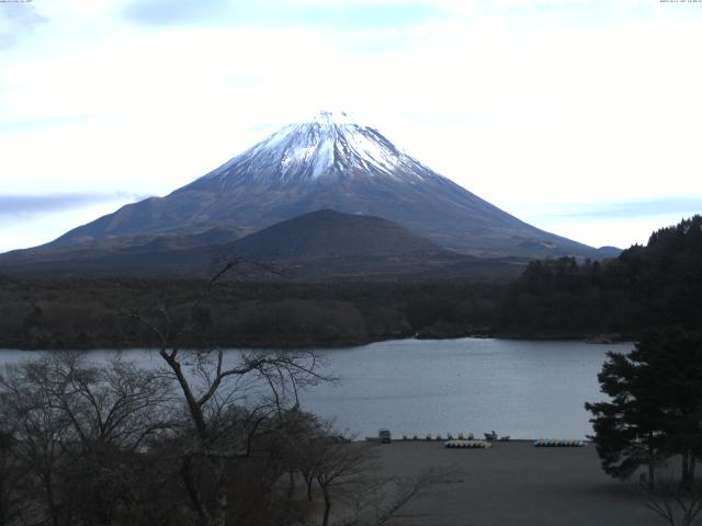
M236 276L236 272L231 273ZM157 345L133 313L185 316L203 281L0 279L0 347ZM223 279L199 304L189 346L339 346L491 330L503 286L450 283L285 284Z

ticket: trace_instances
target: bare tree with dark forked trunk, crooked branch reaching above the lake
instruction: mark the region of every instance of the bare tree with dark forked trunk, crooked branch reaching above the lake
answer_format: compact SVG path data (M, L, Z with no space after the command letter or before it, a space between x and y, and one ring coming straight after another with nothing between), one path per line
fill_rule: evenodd
M297 391L325 377L318 371L318 356L313 352L248 351L227 356L222 348L183 351L185 336L199 328L199 312L215 284L231 268L245 262L229 262L192 302L186 315L177 319L161 302L151 316L132 311L132 319L146 327L159 342L159 355L172 374L183 398L192 425L192 441L182 454L181 474L200 522L225 526L229 514L227 496L228 466L251 455L252 438L260 424L291 400L297 404ZM234 359L227 359L233 357ZM281 393L286 393L281 398ZM288 396L292 393L292 396ZM271 400L271 397L273 400ZM248 405L246 419L233 405ZM195 481L195 460L210 468L214 487L214 508L208 510Z

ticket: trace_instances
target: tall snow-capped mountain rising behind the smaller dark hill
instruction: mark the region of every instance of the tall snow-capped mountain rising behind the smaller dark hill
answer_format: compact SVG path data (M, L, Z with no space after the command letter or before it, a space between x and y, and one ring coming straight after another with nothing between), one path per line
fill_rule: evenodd
M66 254L114 243L207 239L208 232L231 241L320 209L381 217L471 256L610 255L519 220L433 172L377 129L330 112L283 127L165 197L126 205L41 249Z

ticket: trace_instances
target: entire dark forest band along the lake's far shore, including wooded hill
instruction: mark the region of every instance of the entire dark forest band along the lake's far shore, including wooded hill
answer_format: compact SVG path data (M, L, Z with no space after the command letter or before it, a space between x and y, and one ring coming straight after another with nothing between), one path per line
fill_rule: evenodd
M235 265L236 266L236 265ZM654 232L612 260L531 262L512 283L275 283L0 277L0 346L154 345L135 313L197 330L184 344L352 345L407 338L629 338L702 322L702 217ZM200 298L200 299L197 299Z

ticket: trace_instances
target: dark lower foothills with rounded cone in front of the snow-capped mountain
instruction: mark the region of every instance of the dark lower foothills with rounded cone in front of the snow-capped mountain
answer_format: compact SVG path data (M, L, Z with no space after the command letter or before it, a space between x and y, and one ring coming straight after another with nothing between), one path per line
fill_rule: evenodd
M406 228L371 216L318 210L273 225L234 242L181 248L168 238L112 251L46 249L25 260L0 263L10 274L206 276L239 260L240 276L254 279L424 279L516 275L523 262L490 262L442 249ZM78 247L91 245L82 243ZM69 249L69 248L64 248ZM68 255L68 256L67 256ZM262 267L272 265L269 273Z

